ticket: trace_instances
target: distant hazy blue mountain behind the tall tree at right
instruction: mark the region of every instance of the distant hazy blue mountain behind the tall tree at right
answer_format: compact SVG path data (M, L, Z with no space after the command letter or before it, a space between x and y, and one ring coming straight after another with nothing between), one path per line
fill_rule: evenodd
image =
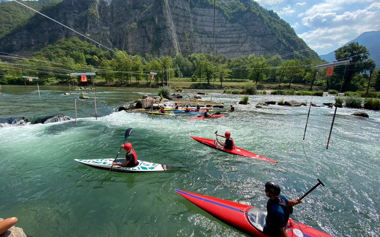
M347 42L343 46L349 45L352 42L357 42L359 45L364 45L369 51L369 58L371 58L376 63L376 68L380 68L380 30L368 31L357 36L350 42ZM342 46L342 47L343 47ZM335 61L335 50L328 53L319 55L323 60L332 63Z

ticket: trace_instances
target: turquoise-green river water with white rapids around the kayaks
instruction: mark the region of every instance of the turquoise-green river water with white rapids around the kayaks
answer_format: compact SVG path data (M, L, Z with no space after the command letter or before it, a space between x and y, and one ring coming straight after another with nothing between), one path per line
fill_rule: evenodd
M71 121L0 127L0 217L17 216L30 236L244 236L178 195L174 189L215 196L265 208L265 182L280 184L290 199L321 179L325 187L294 208L292 219L333 236L378 236L380 112L370 118L339 108L326 150L333 109L278 105L256 109L258 102L310 96L241 96L206 91L203 98L235 104L238 112L215 120L187 120L188 115L154 116L115 112L155 89L97 88L94 97L77 100L66 87L2 86L0 117L36 118L62 114ZM99 92L100 91L100 92ZM192 95L194 91L185 91ZM333 96L313 97L333 102ZM192 115L196 116L196 115ZM139 160L188 166L155 173L110 172L74 159L114 158L127 128ZM234 156L206 147L189 135L213 139L231 131L235 145L279 161L278 164ZM122 151L123 152L123 151ZM123 155L124 153L121 153Z

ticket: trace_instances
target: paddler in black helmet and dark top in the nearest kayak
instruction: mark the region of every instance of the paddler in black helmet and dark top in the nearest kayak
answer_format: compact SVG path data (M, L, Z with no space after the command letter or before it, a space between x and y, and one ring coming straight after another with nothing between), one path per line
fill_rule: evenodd
M263 232L270 236L287 237L286 226L289 215L293 212L293 206L302 203L301 200L288 200L278 184L267 182L265 184L265 195L269 198L266 204L267 216Z

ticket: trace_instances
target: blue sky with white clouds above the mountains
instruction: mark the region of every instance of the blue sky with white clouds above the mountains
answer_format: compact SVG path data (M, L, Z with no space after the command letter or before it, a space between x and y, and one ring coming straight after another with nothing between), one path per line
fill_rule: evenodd
M255 0L273 10L319 55L380 30L380 0ZM379 34L380 45L380 34Z

